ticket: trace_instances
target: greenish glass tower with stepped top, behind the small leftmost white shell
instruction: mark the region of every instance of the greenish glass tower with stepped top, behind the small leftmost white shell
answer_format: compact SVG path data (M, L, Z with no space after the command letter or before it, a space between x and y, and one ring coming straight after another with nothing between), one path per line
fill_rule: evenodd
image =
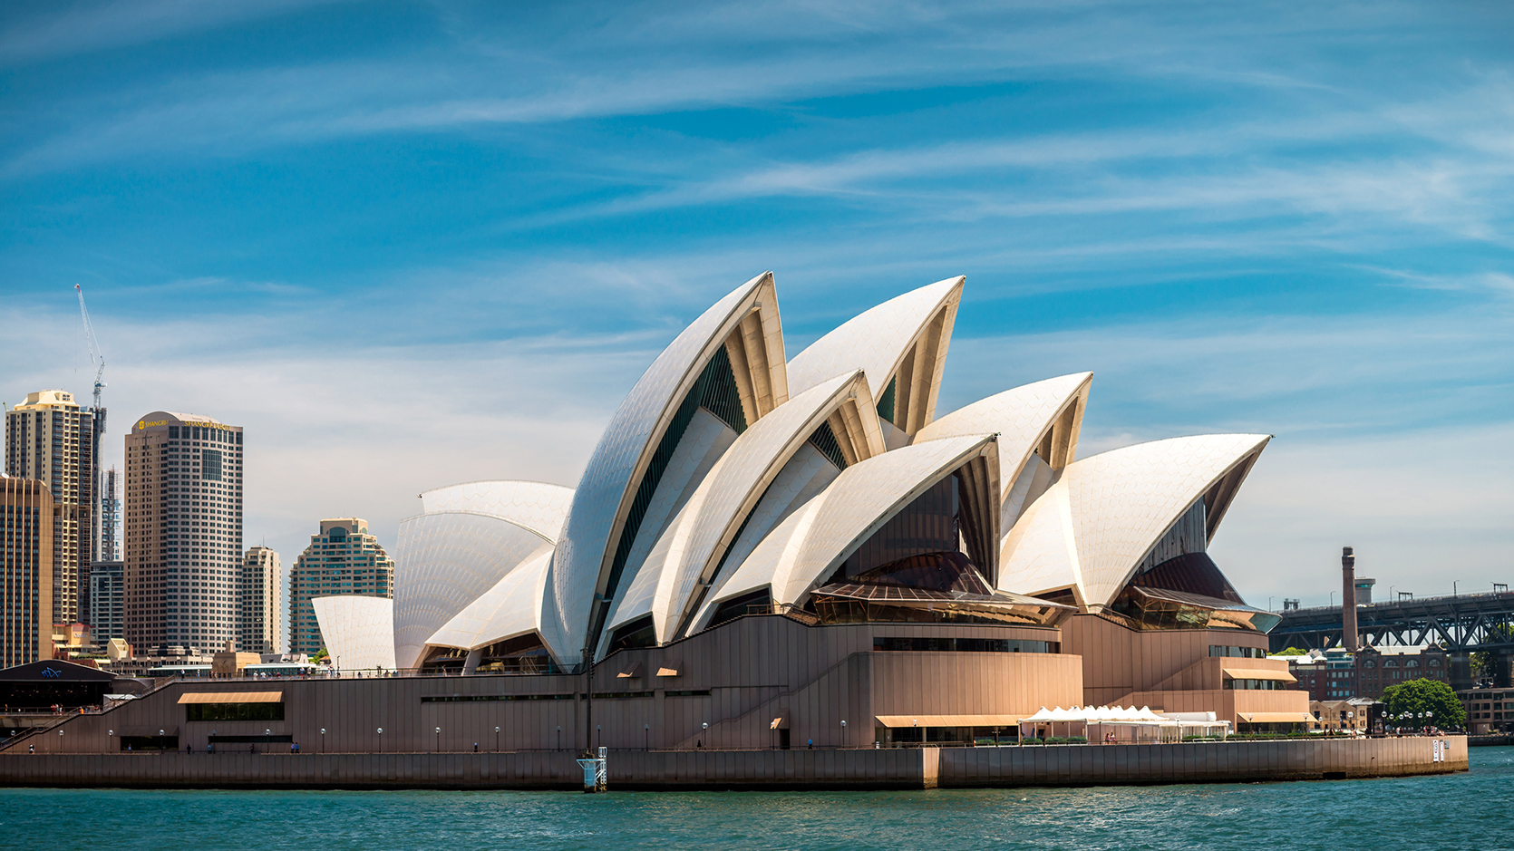
M289 653L319 653L326 647L315 622L312 597L362 594L394 598L394 559L368 535L362 518L321 521L321 533L300 554L289 575Z

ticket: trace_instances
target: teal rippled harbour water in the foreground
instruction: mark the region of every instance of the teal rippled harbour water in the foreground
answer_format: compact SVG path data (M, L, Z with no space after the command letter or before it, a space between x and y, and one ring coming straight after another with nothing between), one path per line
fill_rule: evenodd
M1514 748L1455 775L917 792L0 789L0 848L1514 848Z

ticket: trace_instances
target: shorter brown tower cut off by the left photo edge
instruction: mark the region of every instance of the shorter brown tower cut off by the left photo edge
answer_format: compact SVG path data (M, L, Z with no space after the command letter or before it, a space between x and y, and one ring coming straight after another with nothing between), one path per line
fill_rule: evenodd
M53 495L0 478L0 668L53 657Z

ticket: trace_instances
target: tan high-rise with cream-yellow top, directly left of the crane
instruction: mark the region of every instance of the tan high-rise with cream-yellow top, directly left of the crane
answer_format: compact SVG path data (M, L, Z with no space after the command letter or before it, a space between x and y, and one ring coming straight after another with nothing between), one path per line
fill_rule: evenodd
M91 521L94 488L94 415L80 409L74 394L39 391L5 416L6 469L17 478L36 478L53 495L53 610L55 624L71 624L85 612L89 562L94 560Z

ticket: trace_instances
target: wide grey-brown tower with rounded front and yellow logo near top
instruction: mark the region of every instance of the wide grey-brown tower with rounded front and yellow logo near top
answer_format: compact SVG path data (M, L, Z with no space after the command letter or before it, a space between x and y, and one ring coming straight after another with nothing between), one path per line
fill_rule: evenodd
M154 410L126 436L126 642L220 650L236 637L242 429Z

